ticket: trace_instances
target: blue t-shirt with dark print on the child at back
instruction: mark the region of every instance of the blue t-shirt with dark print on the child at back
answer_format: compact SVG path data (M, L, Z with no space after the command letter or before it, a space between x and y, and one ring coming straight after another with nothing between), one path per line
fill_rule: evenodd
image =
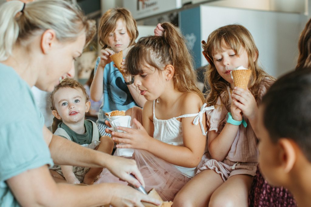
M100 57L97 58L95 64L94 75L96 73ZM100 106L97 123L104 123L107 117L106 112L113 110L128 110L134 106L138 106L134 101L132 94L128 90L128 86L124 83L124 78L118 68L115 68L114 62L110 62L104 68L103 79L103 96L104 101Z

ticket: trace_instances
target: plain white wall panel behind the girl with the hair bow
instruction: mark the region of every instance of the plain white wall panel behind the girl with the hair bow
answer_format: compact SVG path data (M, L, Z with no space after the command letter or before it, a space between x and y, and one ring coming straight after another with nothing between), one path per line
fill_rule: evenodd
M200 6L201 38L206 40L215 29L239 23L253 35L259 50L259 61L271 75L279 77L292 70L298 56L299 34L307 16L295 13ZM202 65L207 61L201 56Z

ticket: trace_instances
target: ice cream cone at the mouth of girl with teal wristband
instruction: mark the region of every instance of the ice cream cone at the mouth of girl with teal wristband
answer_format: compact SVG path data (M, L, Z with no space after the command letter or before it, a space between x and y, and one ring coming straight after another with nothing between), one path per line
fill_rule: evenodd
M234 86L247 89L248 82L252 74L251 70L240 66L236 69L233 69L230 73L234 82Z

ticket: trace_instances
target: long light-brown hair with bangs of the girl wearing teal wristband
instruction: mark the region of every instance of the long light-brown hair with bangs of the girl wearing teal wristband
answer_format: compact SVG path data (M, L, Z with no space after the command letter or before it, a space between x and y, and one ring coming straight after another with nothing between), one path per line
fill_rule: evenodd
M242 25L226 25L214 30L207 38L207 43L202 45L209 65L205 74L205 83L210 86L207 92L206 103L208 106L216 105L216 101L220 94L224 93L223 104L228 103L229 94L228 87L230 83L223 79L217 72L216 66L213 62L213 54L222 51L221 47L228 47L237 55L240 47L244 47L248 55L248 69L252 71L251 79L249 82L249 90L258 100L258 89L263 79L275 80L272 76L268 75L258 65L258 48L255 45L254 39L250 32Z

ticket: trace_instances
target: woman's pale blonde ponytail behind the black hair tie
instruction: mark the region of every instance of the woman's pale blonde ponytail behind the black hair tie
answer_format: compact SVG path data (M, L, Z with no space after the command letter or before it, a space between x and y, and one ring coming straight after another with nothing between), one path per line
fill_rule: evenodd
M23 8L24 3L21 1L10 1L0 6L0 61L5 61L12 54L19 34L16 15Z

